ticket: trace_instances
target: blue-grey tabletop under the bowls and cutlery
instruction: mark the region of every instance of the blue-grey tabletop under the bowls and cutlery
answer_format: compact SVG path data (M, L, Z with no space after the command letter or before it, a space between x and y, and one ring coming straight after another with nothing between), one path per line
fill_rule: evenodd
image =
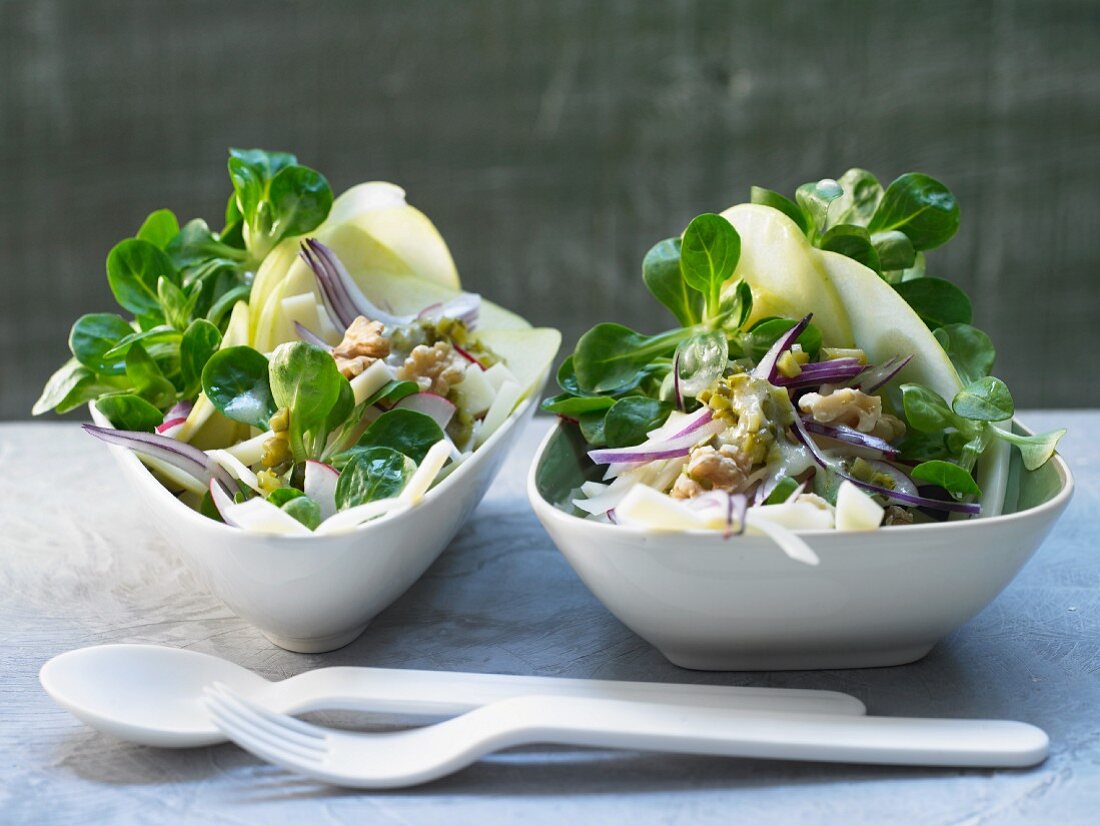
M912 665L784 673L678 669L584 588L528 509L525 434L471 521L366 632L293 654L202 592L154 532L101 445L72 425L0 426L0 822L229 823L1096 823L1100 811L1098 412L1024 414L1070 428L1077 494L1016 581ZM562 748L513 750L427 786L332 790L233 746L157 750L56 707L48 658L148 642L278 679L370 664L518 674L821 687L887 715L1011 717L1053 751L1025 771L800 764ZM346 720L338 720L346 723Z

